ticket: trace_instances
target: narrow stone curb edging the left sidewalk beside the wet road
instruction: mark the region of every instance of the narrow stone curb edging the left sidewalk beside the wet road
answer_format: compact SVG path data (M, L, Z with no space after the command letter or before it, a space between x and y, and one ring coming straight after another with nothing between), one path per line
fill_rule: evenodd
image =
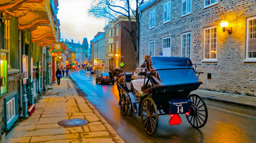
M112 128L112 126L100 115L100 113L93 106L93 104L86 98L86 93L82 92L82 90L77 87L77 83L73 80L73 78L71 76L69 76L69 78L72 80L73 84L75 85L74 87L78 91L78 93L80 93L82 95L82 97L84 97L86 99L86 102L92 108L93 112L99 117L99 119L102 122L102 124L106 126L106 129L108 129L109 132L112 134L112 136L113 136L112 139L115 142L124 143L123 139L117 134L117 132Z

